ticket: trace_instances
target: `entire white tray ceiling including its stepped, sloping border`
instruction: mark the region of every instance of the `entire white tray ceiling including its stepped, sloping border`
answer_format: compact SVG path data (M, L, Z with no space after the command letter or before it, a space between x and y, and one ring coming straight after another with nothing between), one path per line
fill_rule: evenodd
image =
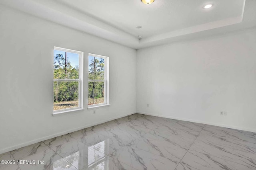
M140 0L1 0L0 4L134 49L256 26L256 0L155 0L150 5ZM206 4L214 6L204 9Z

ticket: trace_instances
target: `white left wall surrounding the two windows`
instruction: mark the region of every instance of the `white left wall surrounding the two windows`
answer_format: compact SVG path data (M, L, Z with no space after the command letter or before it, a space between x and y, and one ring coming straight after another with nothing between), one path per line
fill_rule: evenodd
M136 112L136 50L4 6L0 34L0 153ZM84 52L85 82L88 53L109 57L110 106L52 116L54 46Z

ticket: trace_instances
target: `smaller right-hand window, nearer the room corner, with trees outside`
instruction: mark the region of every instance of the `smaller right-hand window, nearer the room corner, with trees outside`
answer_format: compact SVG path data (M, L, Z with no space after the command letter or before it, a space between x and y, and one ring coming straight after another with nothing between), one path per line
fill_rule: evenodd
M108 57L89 54L88 106L108 105Z

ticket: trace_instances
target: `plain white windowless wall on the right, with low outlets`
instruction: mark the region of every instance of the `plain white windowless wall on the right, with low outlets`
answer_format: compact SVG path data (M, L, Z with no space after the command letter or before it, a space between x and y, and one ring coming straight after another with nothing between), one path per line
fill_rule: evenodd
M137 112L256 132L256 29L138 50Z

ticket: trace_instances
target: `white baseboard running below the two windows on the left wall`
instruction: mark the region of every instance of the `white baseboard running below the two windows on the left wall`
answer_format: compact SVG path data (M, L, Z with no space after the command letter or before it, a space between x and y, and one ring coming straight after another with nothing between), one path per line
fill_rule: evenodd
M13 147L9 147L9 148L6 148L6 149L2 149L0 150L0 154L2 153L5 153L5 152L9 152L11 150L15 150L15 149L19 149L19 148L22 148L22 147L26 147L28 145L32 145L34 143L38 143L38 142L42 142L42 141L45 141L45 140L48 140L48 139L52 139L54 137L58 137L58 136L61 136L61 135L65 135L67 133L71 133L71 132L74 132L74 131L79 131L81 129L84 129L84 128L87 128L87 127L91 127L91 126L94 126L94 125L99 125L101 123L105 123L105 122L108 122L108 121L112 121L114 119L119 119L121 117L125 117L125 116L128 116L128 115L132 115L136 112L133 112L133 113L128 113L128 114L125 114L125 115L121 115L121 116L117 116L117 117L112 117L110 119L106 119L104 121L99 121L99 122L96 122L96 123L92 123L90 125L85 125L85 126L82 126L82 127L78 127L78 128L74 128L74 129L71 129L71 130L68 130L68 131L64 131L64 132L60 132L60 133L56 133L54 135L49 135L49 136L46 136L46 137L42 137L42 138L39 138L39 139L35 139L33 141L28 141L28 142L25 142L25 143L22 143L22 144L19 144L19 145L15 145Z

